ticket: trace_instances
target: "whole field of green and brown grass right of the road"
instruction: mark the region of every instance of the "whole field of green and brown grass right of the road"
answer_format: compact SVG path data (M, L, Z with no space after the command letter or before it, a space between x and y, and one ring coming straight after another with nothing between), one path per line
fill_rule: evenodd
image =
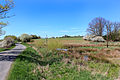
M47 43L37 39L27 47L8 80L114 80L119 76L120 49L115 42L107 48L105 43L82 38L48 39Z

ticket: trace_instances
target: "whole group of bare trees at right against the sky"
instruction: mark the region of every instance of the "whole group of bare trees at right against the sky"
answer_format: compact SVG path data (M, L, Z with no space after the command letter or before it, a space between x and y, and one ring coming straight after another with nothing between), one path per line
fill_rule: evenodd
M94 18L88 25L91 35L103 36L106 40L120 40L120 22L111 22L102 17Z

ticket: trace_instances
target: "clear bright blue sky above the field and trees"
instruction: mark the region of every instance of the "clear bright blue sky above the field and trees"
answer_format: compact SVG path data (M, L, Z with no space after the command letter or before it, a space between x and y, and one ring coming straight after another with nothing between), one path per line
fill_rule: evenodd
M88 23L95 17L120 21L120 0L15 1L10 13L16 16L7 19L6 35L85 35Z

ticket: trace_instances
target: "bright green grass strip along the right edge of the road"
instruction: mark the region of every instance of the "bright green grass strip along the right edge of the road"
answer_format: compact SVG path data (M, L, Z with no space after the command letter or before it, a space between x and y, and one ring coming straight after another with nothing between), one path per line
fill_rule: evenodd
M38 55L32 48L22 52L12 65L8 80L38 80L32 73L38 61Z

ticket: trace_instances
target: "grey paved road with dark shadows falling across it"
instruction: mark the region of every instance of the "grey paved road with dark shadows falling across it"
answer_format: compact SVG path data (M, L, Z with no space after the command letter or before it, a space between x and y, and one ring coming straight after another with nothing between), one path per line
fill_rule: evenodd
M11 64L15 58L26 49L22 44L16 44L16 47L12 50L0 52L0 80L5 80Z

